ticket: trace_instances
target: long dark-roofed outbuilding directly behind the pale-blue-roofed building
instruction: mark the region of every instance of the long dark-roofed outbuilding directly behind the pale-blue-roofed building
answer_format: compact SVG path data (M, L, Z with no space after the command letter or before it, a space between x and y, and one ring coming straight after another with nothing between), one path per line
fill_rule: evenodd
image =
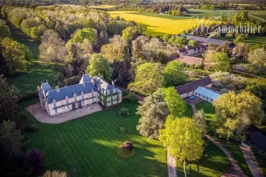
M204 88L211 88L212 87L212 80L210 76L198 79L196 81L180 85L178 87L175 87L177 93L181 96L181 98L186 98L189 96L192 96L194 94L194 91L198 87L204 87Z

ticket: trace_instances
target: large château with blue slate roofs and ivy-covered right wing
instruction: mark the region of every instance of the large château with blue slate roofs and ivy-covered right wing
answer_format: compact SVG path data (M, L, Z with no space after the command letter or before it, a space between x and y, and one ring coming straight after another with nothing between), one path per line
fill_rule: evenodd
M76 85L55 89L46 83L38 86L41 107L49 116L64 113L77 108L87 107L99 102L103 106L112 106L122 101L122 92L103 81L103 77L92 78L83 74Z

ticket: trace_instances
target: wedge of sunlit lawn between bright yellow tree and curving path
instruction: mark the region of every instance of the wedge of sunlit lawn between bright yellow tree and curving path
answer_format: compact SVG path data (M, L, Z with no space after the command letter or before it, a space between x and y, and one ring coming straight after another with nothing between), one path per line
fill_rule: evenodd
M213 143L208 144L199 161L186 165L187 177L221 177L230 169L231 163L222 149ZM177 170L179 177L185 177L183 166Z

